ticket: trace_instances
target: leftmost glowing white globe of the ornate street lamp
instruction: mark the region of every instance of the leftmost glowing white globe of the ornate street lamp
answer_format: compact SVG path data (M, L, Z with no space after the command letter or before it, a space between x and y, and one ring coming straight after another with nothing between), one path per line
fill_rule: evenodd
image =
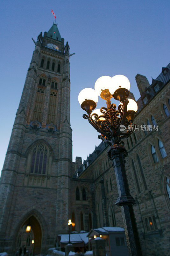
M80 105L86 99L87 100L93 100L96 103L98 102L98 95L97 95L97 93L95 92L94 89L85 88L85 89L81 90L81 92L79 93L79 96L78 96L78 101L79 101Z

